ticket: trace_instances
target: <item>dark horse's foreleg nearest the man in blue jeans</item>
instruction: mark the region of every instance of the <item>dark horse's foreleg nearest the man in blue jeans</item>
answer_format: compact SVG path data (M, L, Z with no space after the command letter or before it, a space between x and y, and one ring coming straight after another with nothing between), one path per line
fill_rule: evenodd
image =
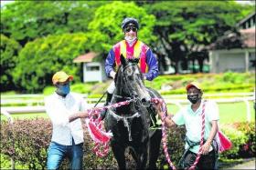
M124 146L112 141L112 153L117 161L119 169L126 169L125 156L124 156Z

